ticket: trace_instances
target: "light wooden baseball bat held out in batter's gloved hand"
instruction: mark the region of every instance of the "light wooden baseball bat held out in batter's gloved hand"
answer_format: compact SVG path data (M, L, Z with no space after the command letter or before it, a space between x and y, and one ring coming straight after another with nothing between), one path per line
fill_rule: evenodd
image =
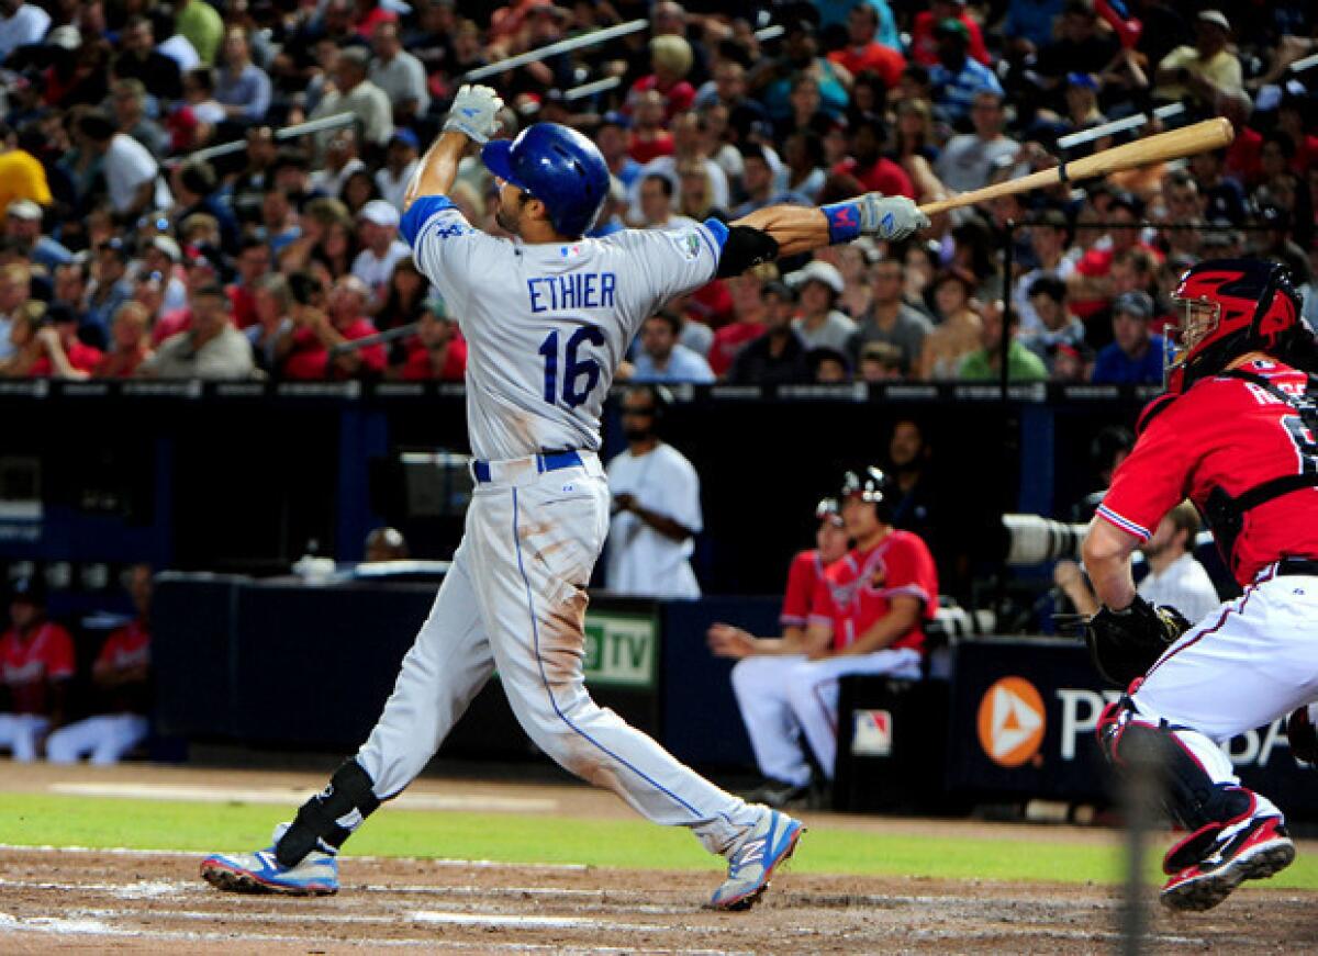
M1168 133L1159 133L1145 140L1136 140L1123 146L1104 149L1102 153L1072 159L1070 162L1053 166L1050 170L1031 173L1028 176L1008 179L1004 183L986 186L982 190L962 192L960 196L944 199L937 203L921 205L920 212L925 216L937 216L948 209L960 209L963 205L974 205L998 196L1014 196L1017 192L1043 190L1057 183L1069 183L1077 179L1090 179L1093 176L1106 176L1108 173L1132 170L1137 166L1152 166L1165 159L1180 159L1181 157L1207 153L1211 149L1220 149L1235 138L1235 130L1230 120L1218 117L1195 122L1193 126L1182 126Z

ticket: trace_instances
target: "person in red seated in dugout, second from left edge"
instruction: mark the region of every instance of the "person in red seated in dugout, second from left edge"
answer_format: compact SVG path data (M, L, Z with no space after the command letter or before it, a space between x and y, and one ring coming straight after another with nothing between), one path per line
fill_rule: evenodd
M134 565L125 574L137 618L116 629L92 666L92 685L100 697L95 716L61 727L46 739L51 764L74 764L90 756L104 766L117 764L150 732L152 569Z

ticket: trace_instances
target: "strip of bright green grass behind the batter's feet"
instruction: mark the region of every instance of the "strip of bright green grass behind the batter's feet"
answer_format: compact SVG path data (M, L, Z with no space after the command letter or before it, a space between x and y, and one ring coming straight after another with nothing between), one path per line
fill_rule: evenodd
M0 843L237 851L264 845L287 811L246 803L182 803L0 793ZM1157 849L1157 853L1161 851ZM572 863L639 869L718 869L720 861L677 828L645 820L585 820L511 814L385 810L349 844L349 855ZM1151 852L1151 856L1157 853ZM1156 860L1151 860L1156 864ZM890 835L815 827L799 873L1111 884L1122 859L1112 844L1065 840ZM1151 880L1156 878L1151 868ZM1271 886L1318 889L1318 860L1301 859Z

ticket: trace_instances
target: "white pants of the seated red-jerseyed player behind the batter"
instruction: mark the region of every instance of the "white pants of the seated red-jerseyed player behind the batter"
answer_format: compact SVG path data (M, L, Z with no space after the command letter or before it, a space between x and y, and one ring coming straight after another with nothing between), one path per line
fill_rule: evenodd
M792 786L811 782L801 736L833 778L837 764L838 679L849 674L919 678L920 654L909 648L811 661L803 654L743 657L733 668L733 693L759 772Z

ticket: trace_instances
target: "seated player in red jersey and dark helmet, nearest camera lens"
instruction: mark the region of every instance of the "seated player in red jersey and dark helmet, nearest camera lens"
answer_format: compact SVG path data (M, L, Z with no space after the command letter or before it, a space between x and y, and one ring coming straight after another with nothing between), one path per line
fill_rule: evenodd
M875 467L847 473L842 531L855 546L816 582L797 637L763 639L726 625L710 629L714 653L738 658L733 691L755 760L776 781L780 803L809 793L803 736L825 776L833 777L838 678L920 677L924 622L938 606L938 575L920 536L891 524L900 496L896 482Z

